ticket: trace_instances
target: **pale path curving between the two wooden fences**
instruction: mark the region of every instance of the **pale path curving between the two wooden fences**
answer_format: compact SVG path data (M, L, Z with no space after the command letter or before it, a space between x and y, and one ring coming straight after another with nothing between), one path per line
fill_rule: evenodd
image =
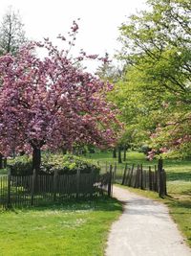
M112 226L106 256L191 256L165 205L115 186L114 197L124 212Z

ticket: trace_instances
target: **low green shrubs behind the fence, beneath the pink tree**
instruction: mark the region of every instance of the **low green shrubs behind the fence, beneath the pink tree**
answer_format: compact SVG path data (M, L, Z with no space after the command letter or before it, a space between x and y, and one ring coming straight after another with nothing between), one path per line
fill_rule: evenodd
M90 160L78 156L66 154L44 154L40 167L41 175L52 175L57 171L59 175L76 174L99 174L99 167ZM11 175L32 175L32 159L27 156L19 156L11 160Z

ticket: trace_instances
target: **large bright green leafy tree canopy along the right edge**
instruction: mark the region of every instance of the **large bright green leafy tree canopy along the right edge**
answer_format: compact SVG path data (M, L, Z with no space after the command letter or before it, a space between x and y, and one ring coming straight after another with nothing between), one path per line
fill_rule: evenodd
M150 0L120 27L126 73L113 100L140 144L191 154L191 2ZM150 140L150 135L155 136ZM166 153L167 155L167 153Z

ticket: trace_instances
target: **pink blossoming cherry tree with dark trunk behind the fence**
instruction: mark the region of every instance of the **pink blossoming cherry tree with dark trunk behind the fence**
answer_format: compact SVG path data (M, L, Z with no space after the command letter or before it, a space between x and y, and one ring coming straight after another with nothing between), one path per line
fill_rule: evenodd
M74 22L70 45L77 30ZM38 47L47 50L45 58L36 55ZM32 151L33 169L38 171L42 149L114 143L116 110L105 99L112 85L81 68L78 63L84 58L98 57L81 52L71 58L68 50L58 50L48 38L43 43L30 43L16 57L0 58L2 153Z

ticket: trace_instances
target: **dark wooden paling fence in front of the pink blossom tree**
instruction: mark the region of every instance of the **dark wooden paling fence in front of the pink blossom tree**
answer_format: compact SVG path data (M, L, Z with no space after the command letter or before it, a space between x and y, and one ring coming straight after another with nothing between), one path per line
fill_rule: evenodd
M112 194L112 170L104 175L33 175L0 176L0 206L40 205L65 198L91 198Z

